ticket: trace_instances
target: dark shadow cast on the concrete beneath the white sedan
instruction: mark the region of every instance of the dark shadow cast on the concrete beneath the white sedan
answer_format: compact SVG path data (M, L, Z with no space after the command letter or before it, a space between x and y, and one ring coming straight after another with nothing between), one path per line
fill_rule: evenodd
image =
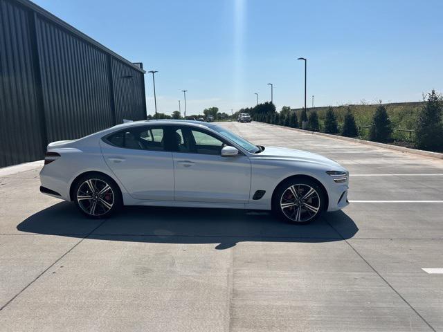
M29 216L17 230L109 241L218 243L215 248L226 249L242 241L343 241L359 229L342 211L308 225L284 223L269 212L197 208L126 207L110 219L96 220L62 202Z

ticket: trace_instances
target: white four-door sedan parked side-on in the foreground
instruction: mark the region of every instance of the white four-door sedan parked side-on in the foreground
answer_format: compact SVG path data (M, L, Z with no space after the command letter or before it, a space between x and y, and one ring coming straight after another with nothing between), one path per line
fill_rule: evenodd
M108 217L122 205L273 210L307 223L347 204L348 172L307 151L253 145L214 123L136 121L48 145L40 191Z

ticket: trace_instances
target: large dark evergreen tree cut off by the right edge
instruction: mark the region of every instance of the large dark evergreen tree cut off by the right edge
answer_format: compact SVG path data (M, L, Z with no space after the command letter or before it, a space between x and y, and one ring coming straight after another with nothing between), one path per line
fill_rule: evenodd
M443 151L443 100L435 90L417 116L415 145L418 149Z

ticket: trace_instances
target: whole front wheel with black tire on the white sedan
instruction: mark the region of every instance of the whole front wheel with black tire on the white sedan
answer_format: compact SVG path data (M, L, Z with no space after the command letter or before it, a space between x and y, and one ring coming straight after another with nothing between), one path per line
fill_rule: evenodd
M310 195L309 192L314 190ZM294 196L296 192L296 196ZM305 201L303 198L307 197ZM282 208L282 205L287 205ZM278 185L273 194L272 211L289 223L306 224L318 219L326 208L325 192L316 182L305 177L293 177ZM316 212L314 212L316 210Z

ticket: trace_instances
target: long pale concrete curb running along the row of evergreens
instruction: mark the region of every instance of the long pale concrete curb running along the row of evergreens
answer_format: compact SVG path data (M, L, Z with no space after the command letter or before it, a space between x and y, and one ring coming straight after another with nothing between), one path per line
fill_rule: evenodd
M255 121L255 122L258 122L258 121ZM406 154L417 154L419 156L426 156L426 157L431 157L431 158L443 159L443 154L440 154L438 152L410 149L408 147L397 147L397 145L372 142L370 140L359 140L358 138L336 136L336 135L331 135L330 133L319 133L318 131L309 131L309 130L303 130L303 129L298 129L298 128L284 127L284 126L280 126L280 124L270 124L270 123L265 123L265 122L259 122L259 123L269 124L270 126L280 127L280 128L284 128L284 129L290 129L293 131L299 131L300 133L307 133L307 134L311 133L312 135L324 136L327 138L335 138L336 140L347 140L348 142L355 142L355 143L360 143L360 144L365 144L365 145L372 145L373 147L383 147L385 149L396 150L396 151L404 152Z

